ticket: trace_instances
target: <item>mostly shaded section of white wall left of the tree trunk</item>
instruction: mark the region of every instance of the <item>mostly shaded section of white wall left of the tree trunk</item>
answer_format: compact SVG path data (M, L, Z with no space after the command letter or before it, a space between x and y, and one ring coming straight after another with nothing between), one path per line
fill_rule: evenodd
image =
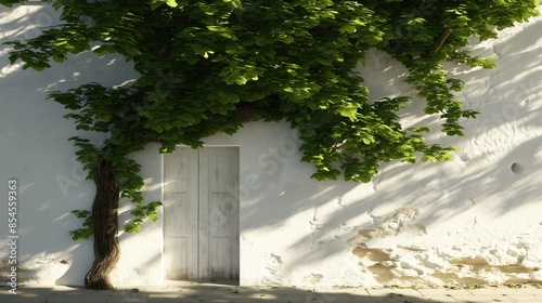
M57 16L59 12L41 3L0 6L0 43L36 37L41 27L54 25ZM90 53L52 64L42 73L23 70L21 63L10 64L10 50L0 45L0 172L5 182L0 195L8 197L8 180L17 181L18 282L81 285L81 273L92 264L92 241L72 241L68 230L81 222L69 212L91 208L94 185L85 180L76 149L67 141L82 133L63 118L61 105L46 98L53 90L91 81L119 84L132 74L113 56L94 58ZM8 218L8 207L0 213ZM12 254L5 245L8 228L0 229L0 280L4 281Z

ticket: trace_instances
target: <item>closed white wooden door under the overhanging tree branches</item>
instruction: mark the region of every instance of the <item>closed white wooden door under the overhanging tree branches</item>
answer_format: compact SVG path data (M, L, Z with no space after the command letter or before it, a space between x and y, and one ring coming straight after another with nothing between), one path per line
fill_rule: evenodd
M238 147L165 155L166 279L238 279Z

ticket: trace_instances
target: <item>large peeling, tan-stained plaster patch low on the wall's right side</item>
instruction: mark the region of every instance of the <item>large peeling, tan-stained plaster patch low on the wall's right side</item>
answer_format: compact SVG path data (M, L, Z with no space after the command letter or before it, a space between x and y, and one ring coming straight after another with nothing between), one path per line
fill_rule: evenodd
M359 229L347 243L353 247L351 253L360 271L380 285L540 282L541 267L526 263L530 252L526 241L511 243L506 250L479 247L478 251L486 255L473 255L472 251L467 254L460 246L449 251L417 246L377 247L382 241L376 239L412 232L425 235L425 226L415 223L418 215L417 209L399 208L378 226Z

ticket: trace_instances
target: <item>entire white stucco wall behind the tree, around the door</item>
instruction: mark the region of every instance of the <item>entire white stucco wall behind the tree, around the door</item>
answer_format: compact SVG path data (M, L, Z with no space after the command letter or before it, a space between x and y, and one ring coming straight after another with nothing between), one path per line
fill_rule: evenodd
M0 9L0 40L26 38L55 13L29 5ZM457 68L466 81L459 97L481 111L465 121L464 137L431 141L460 148L453 162L384 164L367 184L317 182L299 161L299 142L286 123L247 123L234 136L207 145L241 152L242 285L504 284L542 280L542 18L474 47L495 57L492 70ZM94 185L83 180L74 124L62 106L44 101L54 90L85 82L119 84L133 75L114 57L80 55L37 74L9 65L0 49L0 197L18 181L18 278L26 284L81 285L92 263L91 241L70 240L80 222L69 211L89 209ZM372 97L412 91L404 70L382 53L362 68ZM412 92L411 92L412 93ZM405 124L436 121L414 102ZM95 137L98 141L99 137ZM157 145L133 155L143 164L145 197L162 196ZM5 201L4 198L1 198ZM119 222L128 219L121 203ZM8 206L0 206L7 218ZM113 282L163 282L163 221L119 235L120 261ZM0 260L10 253L0 228ZM0 279L5 279L5 266Z

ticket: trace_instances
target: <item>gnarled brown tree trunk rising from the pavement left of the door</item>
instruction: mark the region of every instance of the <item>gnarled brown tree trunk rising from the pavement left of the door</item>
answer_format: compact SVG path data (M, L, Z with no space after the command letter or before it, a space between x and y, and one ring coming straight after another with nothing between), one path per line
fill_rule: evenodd
M96 184L96 194L92 203L94 263L85 276L85 287L113 289L108 275L119 256L117 240L119 187L111 162L103 159L96 160L94 183Z

